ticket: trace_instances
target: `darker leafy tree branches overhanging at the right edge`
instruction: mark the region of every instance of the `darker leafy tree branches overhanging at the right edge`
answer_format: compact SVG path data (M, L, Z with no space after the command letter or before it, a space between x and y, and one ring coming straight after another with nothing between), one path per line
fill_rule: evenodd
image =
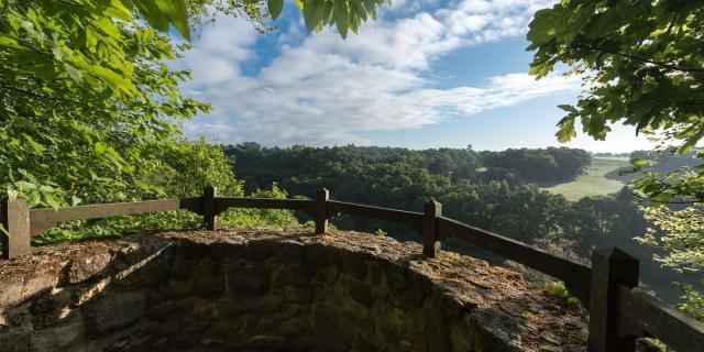
M558 140L574 138L578 120L596 140L624 123L680 153L691 150L704 138L703 35L702 1L566 0L536 12L530 73L542 78L566 65L565 75L582 77L585 87L574 106L560 106L566 116ZM647 172L632 186L652 201L704 200L702 169Z

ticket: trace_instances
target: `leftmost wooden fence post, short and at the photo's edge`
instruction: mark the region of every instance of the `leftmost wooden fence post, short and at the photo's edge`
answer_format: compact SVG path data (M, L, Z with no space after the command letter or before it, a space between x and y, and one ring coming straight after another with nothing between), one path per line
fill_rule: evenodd
M32 252L30 235L30 206L26 199L2 200L2 257L11 258Z

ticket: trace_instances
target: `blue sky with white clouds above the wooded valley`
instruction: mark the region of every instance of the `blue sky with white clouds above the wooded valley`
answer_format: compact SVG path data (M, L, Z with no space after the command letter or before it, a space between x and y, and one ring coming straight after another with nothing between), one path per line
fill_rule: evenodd
M649 148L620 125L606 141L557 142L557 106L575 102L581 82L536 80L525 50L532 14L552 2L394 0L346 40L308 33L293 1L264 34L219 16L174 64L191 70L184 92L212 105L184 132L266 146Z

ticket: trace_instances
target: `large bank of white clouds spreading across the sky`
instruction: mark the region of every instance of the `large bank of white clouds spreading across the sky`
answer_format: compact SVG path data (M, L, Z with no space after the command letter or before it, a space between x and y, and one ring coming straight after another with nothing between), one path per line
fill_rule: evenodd
M334 30L298 43L283 36L278 55L254 75L241 67L258 59L258 34L240 20L221 19L178 63L194 73L185 88L213 106L185 132L220 143L364 144L355 133L419 128L574 89L575 80L536 81L522 73L448 89L432 88L426 77L437 58L459 47L524 35L532 13L547 4L464 0L370 22L348 41Z

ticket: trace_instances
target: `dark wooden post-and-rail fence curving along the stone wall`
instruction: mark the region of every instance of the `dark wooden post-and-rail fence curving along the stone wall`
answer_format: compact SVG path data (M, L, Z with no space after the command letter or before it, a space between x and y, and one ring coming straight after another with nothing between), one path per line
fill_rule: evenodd
M186 209L201 215L206 229L213 230L217 216L233 207L301 211L315 219L317 234L324 233L329 219L340 215L404 223L420 235L422 252L430 257L437 256L441 241L455 237L564 282L590 311L591 352L631 352L640 337L658 338L679 352L704 352L704 326L638 288L638 261L627 253L614 248L596 250L590 267L446 218L442 206L435 200L424 212L414 212L330 200L327 189L321 189L315 200L300 200L222 198L212 187L206 187L197 198L61 209L30 209L24 199L4 200L2 256L31 253L31 238L62 221Z

